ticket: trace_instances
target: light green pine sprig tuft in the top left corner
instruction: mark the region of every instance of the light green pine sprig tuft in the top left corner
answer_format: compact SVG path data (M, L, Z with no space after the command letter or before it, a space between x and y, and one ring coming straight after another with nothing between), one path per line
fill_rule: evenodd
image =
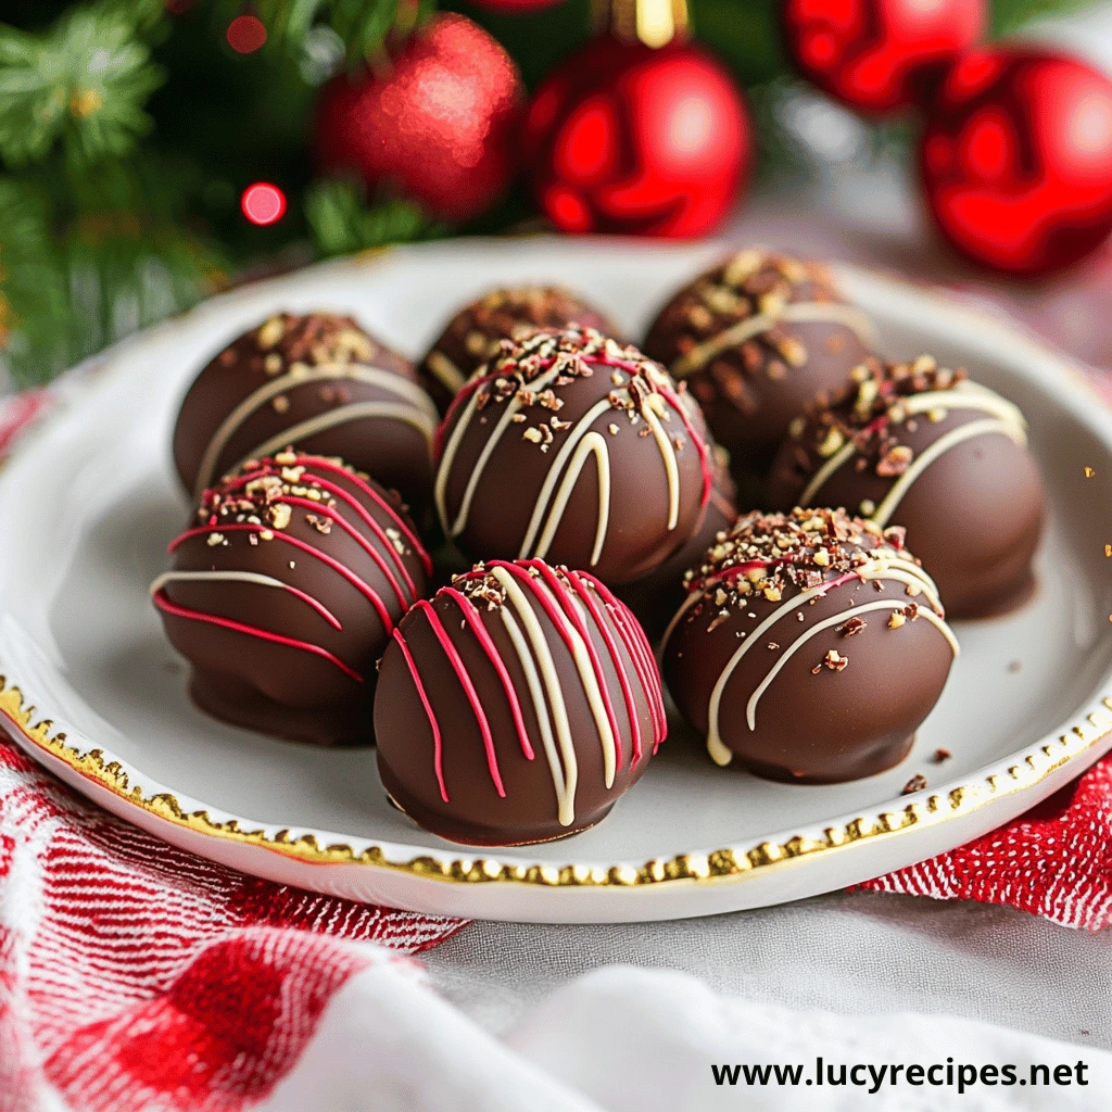
M71 166L131 153L163 80L139 38L155 26L150 6L82 4L42 34L0 24L0 158L9 167L41 161L58 143Z

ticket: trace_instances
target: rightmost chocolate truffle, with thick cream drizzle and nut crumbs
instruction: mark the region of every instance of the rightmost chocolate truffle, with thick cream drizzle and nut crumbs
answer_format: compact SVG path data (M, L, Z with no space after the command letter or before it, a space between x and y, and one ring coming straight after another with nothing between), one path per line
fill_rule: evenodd
M904 526L951 618L1006 613L1032 593L1044 497L1023 416L930 356L856 368L794 424L768 495L777 509L844 506Z

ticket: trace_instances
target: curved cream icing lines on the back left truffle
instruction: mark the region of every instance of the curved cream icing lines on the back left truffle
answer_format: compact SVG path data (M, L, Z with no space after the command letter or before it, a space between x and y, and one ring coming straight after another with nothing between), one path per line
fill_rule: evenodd
M195 493L200 496L200 494L209 486L215 477L217 463L219 461L225 448L228 446L228 443L236 435L244 421L246 421L261 406L266 405L266 403L270 401L272 398L278 397L279 394L285 394L287 390L295 390L298 387L321 381L344 379L349 379L356 383L365 383L368 386L378 386L390 394L400 396L405 399L405 401L393 404L357 403L350 406L340 406L320 415L320 418L336 418L331 420L330 424L325 425L325 428L331 428L334 425L340 425L348 420L358 420L361 417L386 416L407 421L408 424L420 429L427 440L433 439L437 424L436 407L429 401L427 395L419 386L416 386L408 379L403 378L400 375L383 370L379 367L353 366L350 364L322 364L319 367L312 367L306 371L299 371L297 374L288 371L287 374L264 384L257 390L254 390L246 398L244 398L244 400L240 401L230 414L228 414L228 416L220 423L217 430L212 434L212 438L205 448L205 455L201 457L200 466L197 469L197 487ZM368 411L367 407L371 405L380 405L381 411ZM353 414L353 410L359 411ZM295 425L286 429L278 436L270 437L265 441L265 445L257 446L252 449L252 451L248 453L244 459L250 459L255 455L266 455L275 448L287 447L288 445L295 443L298 438L311 435L311 433L298 431L304 426L310 424L311 421L302 421L300 425ZM314 429L314 431L320 430L321 429ZM267 447L267 445L270 447Z

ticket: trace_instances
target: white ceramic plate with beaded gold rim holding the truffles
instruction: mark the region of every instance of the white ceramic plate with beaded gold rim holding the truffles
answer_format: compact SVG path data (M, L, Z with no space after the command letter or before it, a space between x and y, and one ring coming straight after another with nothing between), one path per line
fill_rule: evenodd
M706 915L841 887L959 845L1076 776L1112 745L1112 416L1080 374L1005 325L848 268L843 285L887 353L964 364L1024 408L1051 497L1037 597L957 626L962 656L900 767L840 786L771 784L718 770L674 729L598 827L476 856L387 804L373 749L275 742L190 705L147 588L187 508L170 430L211 351L276 309L331 308L418 356L459 304L520 280L578 287L638 336L717 254L547 238L398 249L216 298L71 376L0 474L0 711L18 739L110 811L245 872L552 922ZM930 761L940 746L953 753L944 765ZM901 796L914 773L929 787Z

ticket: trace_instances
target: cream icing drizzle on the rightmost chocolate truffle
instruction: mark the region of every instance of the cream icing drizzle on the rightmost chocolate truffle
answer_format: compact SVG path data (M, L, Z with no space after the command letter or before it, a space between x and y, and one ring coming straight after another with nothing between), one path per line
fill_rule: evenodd
M964 385L964 384L963 384ZM969 384L972 387L972 384ZM903 408L910 415L930 413L934 409L977 409L982 413L993 415L992 419L970 421L951 429L944 436L939 437L934 444L925 448L911 466L892 485L881 505L871 515L871 519L877 525L886 525L895 510L900 500L907 493L907 488L923 474L926 468L940 456L951 448L956 447L963 440L974 436L984 436L990 433L1002 433L1010 437L1021 447L1026 445L1026 424L1019 408L1005 398L986 390L983 387L953 390L925 391L913 394L907 398L893 403L894 407ZM814 503L818 492L826 485L831 477L840 470L857 451L857 446L851 438L833 456L827 459L822 467L812 476L811 481L800 495L800 505L810 506ZM895 497L893 498L893 495Z

